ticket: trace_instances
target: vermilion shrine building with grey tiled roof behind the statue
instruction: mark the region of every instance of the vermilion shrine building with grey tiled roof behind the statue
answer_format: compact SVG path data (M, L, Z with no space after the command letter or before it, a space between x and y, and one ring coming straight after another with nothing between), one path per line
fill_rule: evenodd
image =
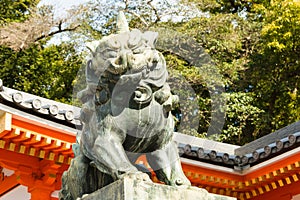
M57 199L79 111L0 80L1 200ZM241 147L179 133L175 140L194 186L240 200L300 199L300 121Z

